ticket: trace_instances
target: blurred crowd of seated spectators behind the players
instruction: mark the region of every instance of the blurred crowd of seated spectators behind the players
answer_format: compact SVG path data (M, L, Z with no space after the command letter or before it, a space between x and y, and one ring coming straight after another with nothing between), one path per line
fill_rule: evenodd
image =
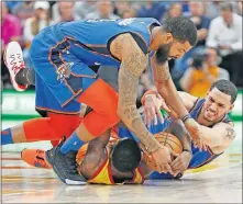
M170 71L178 90L205 97L214 80L229 79L242 88L242 2L219 1L7 1L1 2L1 48L18 41L31 67L29 48L42 30L59 22L85 19L155 18L162 24L169 18L185 15L198 29L198 44L181 59L170 60ZM2 53L1 52L1 53ZM1 56L2 58L2 56ZM3 60L1 80L12 89ZM153 87L152 73L141 77L140 92Z

